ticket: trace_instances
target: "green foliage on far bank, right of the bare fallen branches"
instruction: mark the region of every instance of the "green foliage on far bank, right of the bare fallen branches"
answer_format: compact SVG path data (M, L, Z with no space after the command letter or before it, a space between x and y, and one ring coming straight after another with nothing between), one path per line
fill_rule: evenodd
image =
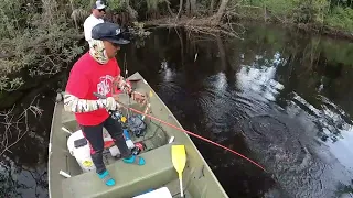
M339 31L353 31L353 4L346 0L244 0L242 6L257 7L263 13L266 8L271 19L282 22L322 24ZM263 19L264 14L257 14L257 18Z

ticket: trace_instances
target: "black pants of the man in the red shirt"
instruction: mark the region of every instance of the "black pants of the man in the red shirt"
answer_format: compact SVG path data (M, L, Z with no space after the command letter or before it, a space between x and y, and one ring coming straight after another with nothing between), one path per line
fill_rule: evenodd
M103 128L105 128L114 143L120 150L121 157L129 157L131 156L131 151L126 145L124 135L122 135L122 128L121 124L114 120L111 117L106 119L99 125L81 125L81 129L88 140L90 145L90 157L93 163L96 166L96 172L101 174L106 170L106 166L103 162L103 151L104 151L104 140L103 140Z

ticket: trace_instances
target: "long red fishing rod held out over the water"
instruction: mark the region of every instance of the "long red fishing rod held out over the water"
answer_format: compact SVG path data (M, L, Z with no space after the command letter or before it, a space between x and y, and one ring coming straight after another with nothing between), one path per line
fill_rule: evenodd
M96 94L96 92L95 92L94 95L97 96L98 98L101 98L101 99L105 99L105 98L106 98L105 96L101 96L101 95ZM222 144L218 144L218 143L213 142L213 141L206 139L206 138L203 138L203 136L201 136L201 135L197 135L197 134L195 134L195 133L193 133L193 132L191 132L191 131L188 131L188 130L184 130L184 129L179 128L179 127L176 127L176 125L173 125L173 124L171 124L171 123L168 123L168 122L165 122L165 121L163 121L163 120L161 120L161 119L158 119L158 118L156 118L156 117L152 117L152 116L150 116L150 114L147 114L147 113L145 113L145 112L142 112L142 111L139 111L139 110L137 110L137 109L133 109L133 108L130 108L130 107L126 107L124 103L121 103L121 102L119 102L119 101L117 101L117 102L118 102L122 108L125 108L125 109L127 109L127 110L133 111L133 112L136 112L136 113L139 113L139 114L142 114L142 116L145 116L145 117L148 117L148 118L150 118L150 119L152 119L152 120L159 121L159 122L161 122L161 123L163 123L163 124L165 124L165 125L168 125L168 127L171 127L171 128L173 128L173 129L176 129L176 130L179 130L179 131L182 131L182 132L184 132L184 133L188 133L188 134L190 134L190 135L192 135L192 136L195 136L195 138L197 138L197 139L200 139L200 140L203 140L203 141L208 142L208 143L211 143L211 144L213 144L213 145L216 145L216 146L218 146L218 147L222 147L222 148L224 148L224 150L226 150L226 151L228 151L228 152L231 152L231 153L233 153L233 154L236 154L236 155L238 155L238 156L247 160L248 162L253 163L254 165L256 165L257 167L261 168L264 172L267 173L267 170L264 168L264 166L261 166L261 165L258 164L257 162L248 158L247 156L245 156L245 155L243 155L243 154L240 154L240 153L238 153L238 152L236 152L236 151L234 151L234 150L231 150L231 148L228 148L228 147L226 147L226 146L224 146L224 145L222 145Z

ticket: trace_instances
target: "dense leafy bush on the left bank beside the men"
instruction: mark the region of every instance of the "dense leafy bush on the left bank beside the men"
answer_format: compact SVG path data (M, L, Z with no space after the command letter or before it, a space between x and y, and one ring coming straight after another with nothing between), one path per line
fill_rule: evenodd
M0 47L1 53L11 56L0 59L1 76L22 69L28 69L29 75L54 75L83 53L65 4L55 0L43 0L43 4L7 1L9 4L0 3ZM18 76L1 78L0 91L14 90L23 82Z

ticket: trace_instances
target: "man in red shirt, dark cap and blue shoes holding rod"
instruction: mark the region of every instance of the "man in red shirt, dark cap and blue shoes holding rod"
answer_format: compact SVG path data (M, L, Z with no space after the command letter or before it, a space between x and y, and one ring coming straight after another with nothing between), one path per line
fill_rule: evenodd
M131 86L120 76L116 59L119 45L128 44L121 30L114 23L99 23L92 30L92 46L73 66L66 85L64 109L75 113L75 118L90 145L90 156L96 172L106 185L115 185L103 162L103 128L105 128L115 144L119 147L122 161L130 164L143 165L145 160L132 155L126 145L121 124L113 119L108 110L118 110L119 103L113 89L128 94L133 100L143 103L146 97L132 91ZM113 85L117 85L114 87ZM98 99L94 92L106 96Z

